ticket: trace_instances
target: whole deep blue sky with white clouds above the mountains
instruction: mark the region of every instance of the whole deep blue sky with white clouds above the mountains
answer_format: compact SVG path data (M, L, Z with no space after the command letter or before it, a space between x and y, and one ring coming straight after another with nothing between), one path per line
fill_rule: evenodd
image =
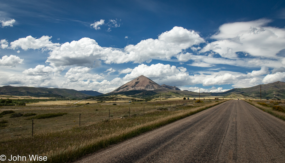
M0 86L111 92L285 82L284 1L0 2Z

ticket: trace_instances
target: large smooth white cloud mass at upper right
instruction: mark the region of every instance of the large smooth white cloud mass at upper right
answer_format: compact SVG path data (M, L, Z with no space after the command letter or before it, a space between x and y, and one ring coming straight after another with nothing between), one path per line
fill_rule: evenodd
M284 49L285 29L266 26L270 20L226 23L211 38L216 39L199 52L214 51L224 58L237 58L236 52L274 57Z

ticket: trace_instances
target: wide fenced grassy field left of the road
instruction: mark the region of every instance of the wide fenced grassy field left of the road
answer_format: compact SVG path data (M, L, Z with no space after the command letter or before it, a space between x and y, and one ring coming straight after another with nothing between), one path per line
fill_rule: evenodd
M27 120L33 116L9 118L12 113L3 115L0 120L7 122L7 126L0 128L0 153L24 156L38 154L47 156L46 162L68 162L220 102L177 100L0 107L1 110L13 110L15 113L35 113L36 116L67 113L52 118L34 119L33 137L32 120Z

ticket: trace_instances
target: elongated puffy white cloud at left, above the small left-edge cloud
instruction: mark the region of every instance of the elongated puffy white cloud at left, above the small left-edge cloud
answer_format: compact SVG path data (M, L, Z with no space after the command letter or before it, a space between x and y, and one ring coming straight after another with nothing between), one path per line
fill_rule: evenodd
M52 50L59 46L58 43L52 43L49 41L52 37L42 36L41 38L33 38L32 36L27 36L26 38L19 38L16 41L10 43L10 47L15 50L16 48L22 48L23 50L29 49L46 49Z

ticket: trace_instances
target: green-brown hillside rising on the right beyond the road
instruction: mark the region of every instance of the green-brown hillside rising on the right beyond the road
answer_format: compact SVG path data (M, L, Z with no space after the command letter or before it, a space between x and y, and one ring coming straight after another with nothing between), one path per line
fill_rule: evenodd
M227 96L232 93L243 94L254 98L260 98L260 85L250 88L235 88L221 93L209 93L213 96ZM274 82L261 85L261 98L284 99L285 98L285 83Z

